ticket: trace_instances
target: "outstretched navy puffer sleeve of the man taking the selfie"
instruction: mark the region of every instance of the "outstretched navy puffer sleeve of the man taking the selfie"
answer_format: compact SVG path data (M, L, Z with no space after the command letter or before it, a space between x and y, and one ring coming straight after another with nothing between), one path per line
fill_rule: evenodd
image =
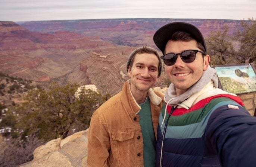
M218 154L222 167L256 165L256 117L243 107L216 109L209 118L205 141Z

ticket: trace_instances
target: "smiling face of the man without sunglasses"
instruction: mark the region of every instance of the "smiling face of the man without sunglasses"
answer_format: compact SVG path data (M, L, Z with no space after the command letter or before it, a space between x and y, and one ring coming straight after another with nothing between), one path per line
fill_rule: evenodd
M128 69L132 94L147 93L157 80L158 65L159 60L154 54L142 53L135 55L132 67Z

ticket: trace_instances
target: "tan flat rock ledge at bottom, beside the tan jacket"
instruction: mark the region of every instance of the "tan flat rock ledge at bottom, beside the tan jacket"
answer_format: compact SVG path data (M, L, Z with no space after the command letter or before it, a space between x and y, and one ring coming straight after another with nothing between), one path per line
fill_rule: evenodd
M88 129L53 139L35 149L32 161L18 167L87 167L87 133Z

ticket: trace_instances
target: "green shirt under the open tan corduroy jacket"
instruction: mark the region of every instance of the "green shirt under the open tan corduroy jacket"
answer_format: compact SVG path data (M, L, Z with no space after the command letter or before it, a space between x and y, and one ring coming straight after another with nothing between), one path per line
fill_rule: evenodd
M144 167L155 167L156 138L154 135L149 98L147 97L146 101L139 105L141 106L141 110L138 114L140 115L140 126L143 136Z

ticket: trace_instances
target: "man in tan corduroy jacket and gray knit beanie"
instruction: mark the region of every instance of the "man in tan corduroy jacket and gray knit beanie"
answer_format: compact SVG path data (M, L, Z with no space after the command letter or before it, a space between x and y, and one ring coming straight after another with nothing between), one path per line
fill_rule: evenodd
M91 117L87 167L155 167L163 96L151 87L161 71L155 49L144 46L131 53L127 61L130 79Z

